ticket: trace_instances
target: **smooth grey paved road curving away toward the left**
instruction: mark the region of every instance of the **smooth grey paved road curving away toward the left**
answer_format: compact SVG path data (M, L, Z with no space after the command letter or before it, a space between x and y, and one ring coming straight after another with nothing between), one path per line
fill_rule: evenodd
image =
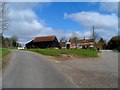
M13 50L3 73L3 88L74 88L74 83L49 60L28 51Z

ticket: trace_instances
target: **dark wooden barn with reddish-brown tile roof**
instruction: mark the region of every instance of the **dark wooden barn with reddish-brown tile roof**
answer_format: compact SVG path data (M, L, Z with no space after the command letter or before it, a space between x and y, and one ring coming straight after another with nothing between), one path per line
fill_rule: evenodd
M61 48L56 36L36 37L34 40L26 44L29 48Z

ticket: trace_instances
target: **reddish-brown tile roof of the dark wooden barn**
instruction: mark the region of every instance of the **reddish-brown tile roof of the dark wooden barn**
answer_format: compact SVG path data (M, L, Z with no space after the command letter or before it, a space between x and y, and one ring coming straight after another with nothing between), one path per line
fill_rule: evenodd
M42 36L36 37L33 42L46 42L46 41L54 41L56 36Z

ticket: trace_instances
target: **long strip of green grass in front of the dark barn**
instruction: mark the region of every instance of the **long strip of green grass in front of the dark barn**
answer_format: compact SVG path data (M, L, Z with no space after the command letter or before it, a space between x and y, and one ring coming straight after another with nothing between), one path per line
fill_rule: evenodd
M47 56L60 56L61 54L77 55L83 57L97 57L98 51L90 49L27 49Z

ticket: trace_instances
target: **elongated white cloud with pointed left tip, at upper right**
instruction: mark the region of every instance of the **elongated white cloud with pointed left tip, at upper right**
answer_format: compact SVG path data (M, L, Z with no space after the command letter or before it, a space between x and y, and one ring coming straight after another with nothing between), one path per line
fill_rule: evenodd
M65 18L72 19L85 27L91 27L94 25L97 29L113 29L118 25L118 18L115 14L105 15L97 12L79 12L65 14Z

